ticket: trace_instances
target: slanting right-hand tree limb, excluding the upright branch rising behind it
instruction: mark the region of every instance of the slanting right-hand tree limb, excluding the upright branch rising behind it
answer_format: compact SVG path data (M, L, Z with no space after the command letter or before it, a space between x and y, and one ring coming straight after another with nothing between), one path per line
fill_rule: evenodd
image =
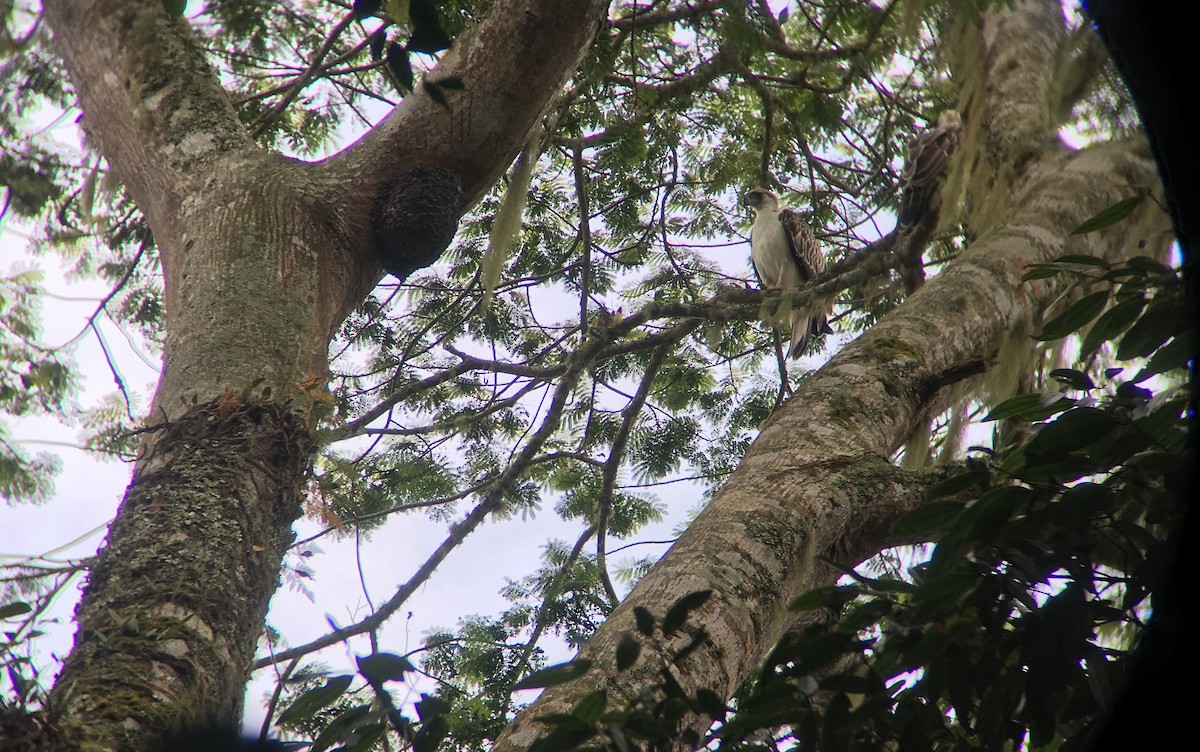
M1103 239L1067 236L1063 228L1115 203L1126 185L1153 180L1130 144L1060 156L1034 170L1002 224L800 385L713 503L583 649L595 661L589 678L547 690L494 748L526 748L540 733L533 718L565 712L598 682L631 696L640 682L654 681L679 645L643 650L644 663L617 676L617 640L634 628L634 606L656 608L694 590L714 590L697 614L712 642L672 673L685 690L732 693L779 639L787 601L817 584L815 554L888 543L890 523L906 507L881 485L887 474L878 470L937 404L941 389L989 362L1055 300L1052 283L1020 282L1026 264L1136 249L1163 227L1154 209Z

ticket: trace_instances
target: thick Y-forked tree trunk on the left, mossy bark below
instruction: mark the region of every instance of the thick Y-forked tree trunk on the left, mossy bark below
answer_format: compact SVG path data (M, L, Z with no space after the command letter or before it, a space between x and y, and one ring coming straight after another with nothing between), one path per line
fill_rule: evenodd
M300 512L330 337L379 281L380 255L403 273L444 249L606 7L503 4L434 74L463 80L449 107L419 90L310 164L253 143L160 0L47 0L84 128L145 213L166 276L154 428L47 704L72 745L146 750L181 726L240 717ZM449 209L422 200L448 186Z

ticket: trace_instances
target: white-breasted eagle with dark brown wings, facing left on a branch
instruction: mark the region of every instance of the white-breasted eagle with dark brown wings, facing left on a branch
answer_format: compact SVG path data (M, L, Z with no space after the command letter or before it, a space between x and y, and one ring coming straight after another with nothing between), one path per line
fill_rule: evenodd
M763 289L792 291L824 270L817 239L794 211L780 211L779 197L755 188L745 194L743 203L756 215L750 228L750 260ZM787 351L791 357L804 354L812 335L833 332L828 314L827 301L792 311L792 347Z

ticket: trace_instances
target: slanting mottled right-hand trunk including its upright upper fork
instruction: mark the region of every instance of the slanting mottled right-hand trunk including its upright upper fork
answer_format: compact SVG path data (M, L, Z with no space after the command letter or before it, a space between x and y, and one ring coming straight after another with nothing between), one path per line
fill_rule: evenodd
M545 729L538 716L566 712L596 685L632 697L667 668L680 686L728 697L779 640L786 604L829 584L826 557L853 566L887 545L892 523L922 501L920 483L889 458L947 389L1032 347L1028 335L1062 293L1055 279L1021 283L1031 263L1068 253L1118 259L1165 249L1168 217L1145 201L1103 234L1072 236L1096 212L1134 191L1158 192L1141 139L1070 152L1055 134L1056 71L1063 20L1033 2L962 24L947 40L966 131L964 166L948 189L961 198L970 247L875 327L846 345L767 425L738 470L671 551L613 612L580 656L583 679L547 688L498 740L523 750ZM688 592L713 590L689 626L643 645L638 663L616 672L632 609L661 615ZM708 640L685 660L670 656L703 628ZM703 718L697 718L703 724Z

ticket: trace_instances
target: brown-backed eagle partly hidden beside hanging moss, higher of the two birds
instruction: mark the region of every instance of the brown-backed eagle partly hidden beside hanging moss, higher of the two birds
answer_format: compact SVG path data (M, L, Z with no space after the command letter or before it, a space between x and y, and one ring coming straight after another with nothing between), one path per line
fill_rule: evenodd
M942 184L950 157L959 148L962 119L953 109L937 116L937 125L908 142L904 169L900 170L900 210L896 227L912 234L926 219L936 221L942 203ZM932 227L929 228L932 230Z

